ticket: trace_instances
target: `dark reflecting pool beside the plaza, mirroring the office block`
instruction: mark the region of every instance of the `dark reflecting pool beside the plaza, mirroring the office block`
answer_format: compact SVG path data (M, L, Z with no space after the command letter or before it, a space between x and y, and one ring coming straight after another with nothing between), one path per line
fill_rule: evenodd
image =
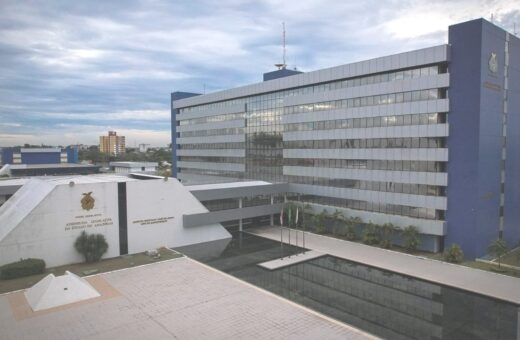
M518 339L515 304L333 256L269 271L258 263L304 249L247 233L176 250L386 339Z

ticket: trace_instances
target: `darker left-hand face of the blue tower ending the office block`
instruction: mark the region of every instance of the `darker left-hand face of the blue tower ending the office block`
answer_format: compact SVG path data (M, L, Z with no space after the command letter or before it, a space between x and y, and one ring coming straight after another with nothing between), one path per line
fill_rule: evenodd
M445 248L459 244L474 254L478 195L478 129L480 116L480 21L451 26L448 210Z

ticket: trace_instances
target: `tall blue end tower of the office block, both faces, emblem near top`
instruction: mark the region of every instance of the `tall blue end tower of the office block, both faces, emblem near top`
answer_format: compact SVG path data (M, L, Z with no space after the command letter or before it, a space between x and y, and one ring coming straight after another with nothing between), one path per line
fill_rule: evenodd
M449 30L445 246L461 245L466 258L486 254L489 243L499 236L505 34L483 19L454 25ZM489 68L492 52L498 58L496 73Z

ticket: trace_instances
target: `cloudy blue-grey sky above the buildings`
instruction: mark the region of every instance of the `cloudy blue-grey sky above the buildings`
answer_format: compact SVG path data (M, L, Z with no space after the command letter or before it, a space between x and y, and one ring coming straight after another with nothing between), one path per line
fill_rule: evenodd
M170 140L170 92L261 80L447 42L478 17L520 31L517 0L0 0L0 146Z

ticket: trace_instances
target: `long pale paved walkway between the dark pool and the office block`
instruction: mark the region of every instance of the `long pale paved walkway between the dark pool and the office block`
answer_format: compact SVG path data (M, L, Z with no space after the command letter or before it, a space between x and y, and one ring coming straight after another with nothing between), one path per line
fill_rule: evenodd
M280 241L280 227L262 227L247 231L253 235ZM288 232L288 229L284 228L284 242L288 240ZM294 245L296 231L292 230L291 233ZM298 235L300 242L298 245L302 246L302 232L299 231ZM520 304L520 289L518 289L520 279L518 278L308 232L305 233L305 248Z

